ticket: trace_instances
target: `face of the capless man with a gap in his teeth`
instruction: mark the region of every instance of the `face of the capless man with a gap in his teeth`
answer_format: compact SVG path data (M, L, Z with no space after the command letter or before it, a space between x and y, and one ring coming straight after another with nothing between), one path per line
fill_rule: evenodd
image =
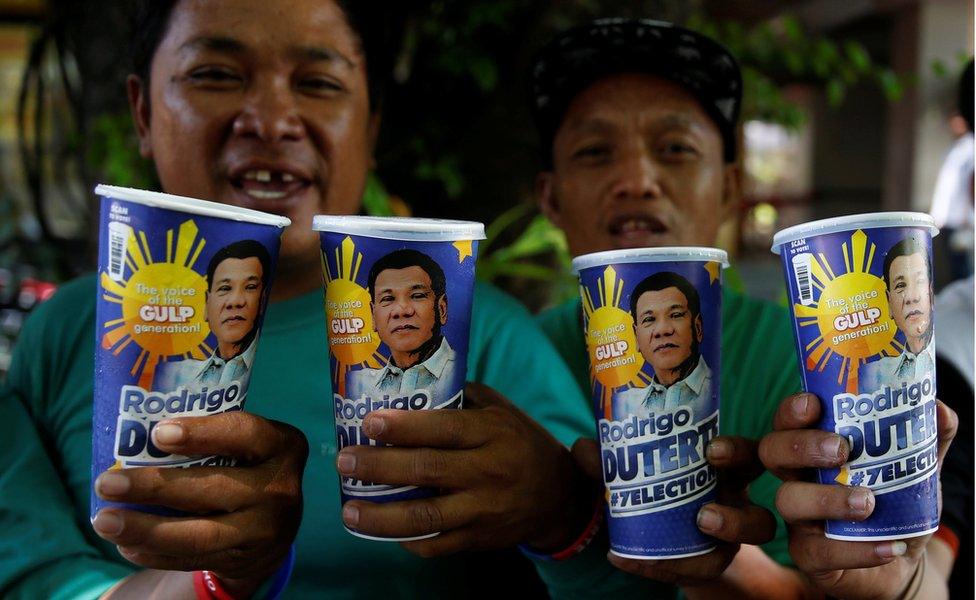
M129 98L166 192L289 217L276 287L319 285L312 216L358 212L374 123L334 2L178 2Z

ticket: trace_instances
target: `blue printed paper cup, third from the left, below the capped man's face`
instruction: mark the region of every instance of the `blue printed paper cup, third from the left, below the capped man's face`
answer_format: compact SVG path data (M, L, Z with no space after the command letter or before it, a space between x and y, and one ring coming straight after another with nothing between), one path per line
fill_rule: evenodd
M636 248L573 259L583 301L610 551L704 554L715 500L705 448L718 435L722 270L715 248Z

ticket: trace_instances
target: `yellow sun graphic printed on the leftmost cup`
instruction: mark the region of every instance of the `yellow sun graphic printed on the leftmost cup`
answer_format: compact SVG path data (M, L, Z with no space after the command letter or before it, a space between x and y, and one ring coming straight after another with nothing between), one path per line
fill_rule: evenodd
M111 312L118 314L102 323L101 345L113 355L131 360L129 373L144 389L150 389L160 361L175 357L203 360L213 352L204 342L210 335L204 320L206 280L193 269L205 244L198 233L193 220L183 222L175 233L167 230L165 247L158 248L163 260L155 262L149 237L139 231L128 238L122 279L115 281L107 272L99 278L102 299L117 307ZM157 312L187 307L192 317L175 332L156 331L151 326L158 323L144 318L147 306L158 308Z

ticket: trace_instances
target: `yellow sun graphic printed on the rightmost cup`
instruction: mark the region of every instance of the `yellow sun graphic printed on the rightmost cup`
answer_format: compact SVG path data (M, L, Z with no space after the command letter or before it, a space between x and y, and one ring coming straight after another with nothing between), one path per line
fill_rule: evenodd
M841 245L840 256L834 256L839 264L831 264L825 253L817 253L810 261L814 302L793 305L806 370L835 373L837 384L852 393L857 392L859 367L867 359L900 351L884 282L871 273L876 250L867 235L857 230ZM868 309L878 309L880 317L865 322L861 315ZM878 331L863 336L842 335L844 332L837 331L835 325L841 315L849 315L858 327Z

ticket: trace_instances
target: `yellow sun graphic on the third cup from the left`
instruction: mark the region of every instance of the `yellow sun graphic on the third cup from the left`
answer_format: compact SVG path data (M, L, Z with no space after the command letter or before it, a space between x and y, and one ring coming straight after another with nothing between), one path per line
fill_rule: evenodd
M597 280L596 298L590 288L580 286L593 397L599 399L600 411L607 419L613 416L611 400L615 388L643 387L650 382L650 377L641 371L644 358L637 349L634 319L620 307L623 289L624 281L612 266L604 269ZM601 358L597 358L598 353Z

